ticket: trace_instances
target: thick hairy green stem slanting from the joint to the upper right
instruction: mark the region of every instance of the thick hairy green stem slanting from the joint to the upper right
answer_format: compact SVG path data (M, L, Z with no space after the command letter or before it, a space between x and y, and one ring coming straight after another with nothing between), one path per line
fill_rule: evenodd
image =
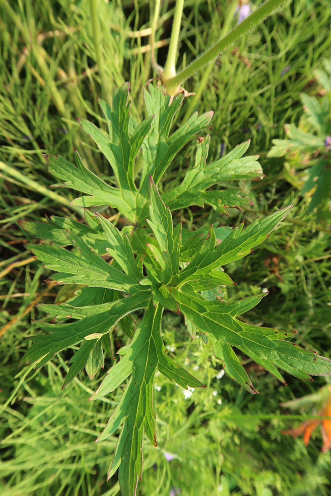
M238 26L236 26L230 33L228 33L224 38L221 38L215 45L210 47L203 55L198 57L194 62L185 67L176 76L166 78L164 84L169 95L175 95L178 92L181 84L191 77L199 69L207 65L207 63L213 61L218 57L221 52L227 50L231 45L233 45L241 36L251 31L255 26L260 24L266 17L272 14L277 8L279 8L287 0L266 0L266 2L261 5L255 12L244 19ZM177 5L176 5L177 7ZM170 52L170 49L169 49ZM168 62L168 61L167 61ZM166 77L166 74L164 74Z

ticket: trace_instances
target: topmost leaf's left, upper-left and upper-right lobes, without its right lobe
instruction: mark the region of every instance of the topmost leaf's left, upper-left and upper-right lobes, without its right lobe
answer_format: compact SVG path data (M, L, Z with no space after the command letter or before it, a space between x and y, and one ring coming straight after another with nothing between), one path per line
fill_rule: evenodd
M71 205L108 205L118 209L130 222L139 225L144 223L148 213L146 200L149 175L157 183L181 148L206 128L212 112L201 116L195 113L186 124L171 134L174 116L182 105L182 96L170 104L170 98L159 87L149 86L145 92L149 117L136 123L130 116L131 102L128 95L129 85L125 84L115 90L112 107L99 100L109 134L85 119L79 120L84 131L91 136L112 166L116 178L114 186L89 171L77 152L76 166L61 156L46 158L49 171L63 181L52 186L70 187L85 193L72 200ZM141 147L143 166L138 189L134 183L134 163Z

